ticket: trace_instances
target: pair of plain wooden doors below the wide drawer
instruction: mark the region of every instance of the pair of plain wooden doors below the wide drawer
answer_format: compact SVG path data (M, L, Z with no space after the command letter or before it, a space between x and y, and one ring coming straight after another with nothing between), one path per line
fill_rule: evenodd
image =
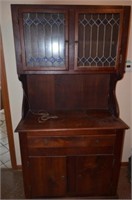
M113 156L30 157L30 196L111 194Z

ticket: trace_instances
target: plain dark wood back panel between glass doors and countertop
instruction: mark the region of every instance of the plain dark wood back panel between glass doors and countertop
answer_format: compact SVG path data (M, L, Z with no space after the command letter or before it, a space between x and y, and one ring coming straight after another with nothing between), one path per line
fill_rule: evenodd
M32 110L107 109L109 74L28 75Z

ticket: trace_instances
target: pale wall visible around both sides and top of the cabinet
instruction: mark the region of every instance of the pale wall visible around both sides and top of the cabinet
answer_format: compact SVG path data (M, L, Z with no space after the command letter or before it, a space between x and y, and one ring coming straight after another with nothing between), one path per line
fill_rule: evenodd
M6 73L7 73L7 84L9 90L9 100L11 107L11 117L13 123L13 129L15 130L20 118L21 118L21 105L22 105L22 88L21 84L18 81L17 72L16 72L16 61L15 61L15 50L14 50L14 40L13 40L13 30L12 30L12 19L11 19L11 11L10 4L113 4L113 5L130 5L132 1L126 0L1 0L0 6L0 24L2 30L2 39L4 46L4 55L5 55L5 65L6 65ZM132 18L131 18L132 22ZM132 26L131 26L131 34L130 34L130 43L132 44ZM129 51L128 58L132 60L132 49L129 43ZM132 101L132 72L127 72L123 81L120 81L117 85L117 98L120 106L120 116L121 118L132 127L132 118L130 113L132 114L132 107L130 112L130 102ZM131 98L131 100L130 100ZM132 129L127 130L127 134L125 136L125 144L123 150L123 158L122 161L127 161L130 155L130 133ZM14 133L15 140L15 149L16 149L16 157L17 164L21 163L20 159L20 150L19 150L19 141L18 134Z

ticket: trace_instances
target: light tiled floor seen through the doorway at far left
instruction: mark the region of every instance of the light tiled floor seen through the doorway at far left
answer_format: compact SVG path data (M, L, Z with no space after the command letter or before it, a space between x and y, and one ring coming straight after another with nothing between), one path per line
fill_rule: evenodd
M11 168L4 110L0 110L0 168Z

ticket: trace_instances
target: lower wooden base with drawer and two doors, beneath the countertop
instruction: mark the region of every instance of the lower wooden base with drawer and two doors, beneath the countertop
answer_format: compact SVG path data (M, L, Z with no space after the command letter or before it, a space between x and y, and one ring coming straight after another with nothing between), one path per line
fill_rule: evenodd
M97 133L20 133L26 198L116 198L124 131Z

